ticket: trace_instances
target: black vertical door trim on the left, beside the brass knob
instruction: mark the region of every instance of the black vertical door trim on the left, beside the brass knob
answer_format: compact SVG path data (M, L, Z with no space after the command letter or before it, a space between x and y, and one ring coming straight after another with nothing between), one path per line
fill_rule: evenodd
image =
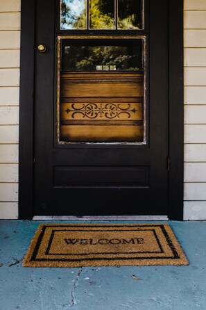
M35 0L22 0L19 97L19 219L33 218Z

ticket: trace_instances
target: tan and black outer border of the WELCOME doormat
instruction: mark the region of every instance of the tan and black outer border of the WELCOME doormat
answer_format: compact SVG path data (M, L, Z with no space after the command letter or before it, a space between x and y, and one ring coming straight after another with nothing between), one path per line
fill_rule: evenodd
M165 240L168 243L171 251L173 252L172 256L164 257L120 257L120 258L84 258L84 259L37 259L37 251L42 242L44 232L48 227L160 227L162 233L164 234ZM124 230L124 229L123 229ZM50 239L51 240L51 236ZM48 243L49 247L49 243ZM47 248L48 249L48 248ZM95 253L96 254L96 253ZM103 253L105 254L105 253ZM109 254L109 253L108 253ZM117 254L117 253L115 253ZM121 253L122 254L122 253ZM58 254L55 254L58 256ZM72 254L73 255L73 254ZM81 254L78 254L81 255ZM153 260L153 261L152 261ZM89 264L89 261L92 261ZM100 263L101 261L101 263ZM122 264L118 264L117 262ZM189 261L178 242L171 226L169 224L40 224L35 232L35 235L31 241L31 245L28 248L26 256L24 258L23 264L24 267L83 267L83 266L187 266Z

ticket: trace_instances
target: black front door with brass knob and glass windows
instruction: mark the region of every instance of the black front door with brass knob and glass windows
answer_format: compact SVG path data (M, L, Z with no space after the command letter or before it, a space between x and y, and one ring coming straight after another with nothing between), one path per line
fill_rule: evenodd
M168 214L168 6L36 1L35 215Z

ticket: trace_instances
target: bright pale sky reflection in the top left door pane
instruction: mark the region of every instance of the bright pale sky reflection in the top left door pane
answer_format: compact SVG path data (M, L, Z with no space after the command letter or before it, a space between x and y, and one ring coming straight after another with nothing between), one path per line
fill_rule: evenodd
M72 29L74 19L76 20L85 9L85 0L65 0L64 2L69 8L69 18L67 19L68 24L64 24L63 27L65 29Z

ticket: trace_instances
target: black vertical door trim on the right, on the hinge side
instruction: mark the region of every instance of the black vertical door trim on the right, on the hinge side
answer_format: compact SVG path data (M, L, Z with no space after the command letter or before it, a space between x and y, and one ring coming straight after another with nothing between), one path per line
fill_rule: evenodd
M169 1L169 220L183 220L183 0Z

